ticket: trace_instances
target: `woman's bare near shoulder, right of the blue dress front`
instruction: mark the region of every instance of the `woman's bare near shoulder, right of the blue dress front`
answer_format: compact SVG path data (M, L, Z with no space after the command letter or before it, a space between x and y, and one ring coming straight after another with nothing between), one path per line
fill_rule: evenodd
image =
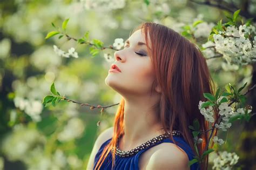
M183 149L172 143L162 143L160 145L160 147L151 155L149 163L146 166L146 170L190 169L190 167L188 166L189 159Z

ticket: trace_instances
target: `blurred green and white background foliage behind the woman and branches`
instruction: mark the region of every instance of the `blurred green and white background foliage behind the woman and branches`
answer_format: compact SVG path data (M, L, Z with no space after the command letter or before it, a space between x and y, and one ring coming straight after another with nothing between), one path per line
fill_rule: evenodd
M225 1L256 15L255 1ZM235 9L230 8L235 11ZM0 2L0 169L85 169L97 136L112 126L117 106L100 110L61 101L56 107L43 107L44 96L56 89L66 97L92 105L119 103L120 96L104 83L113 60L105 49L91 56L89 47L58 36L45 40L48 32L69 18L66 33L112 45L116 38L129 38L130 32L145 21L161 23L181 32L183 26L203 19L194 28L198 42L207 42L213 25L225 20L227 10L191 1L25 1ZM75 47L78 58L56 55L53 45L68 51ZM113 59L113 58L112 58ZM255 65L235 69L223 59L207 60L219 87L227 83L240 87L256 83ZM248 104L255 106L255 91ZM254 101L254 102L253 102ZM255 109L253 108L255 112ZM252 111L252 112L253 112ZM100 120L100 126L97 122ZM255 117L250 123L237 122L220 134L227 139L220 151L239 156L238 169L255 169ZM212 156L213 157L213 156ZM210 156L210 167L212 158Z

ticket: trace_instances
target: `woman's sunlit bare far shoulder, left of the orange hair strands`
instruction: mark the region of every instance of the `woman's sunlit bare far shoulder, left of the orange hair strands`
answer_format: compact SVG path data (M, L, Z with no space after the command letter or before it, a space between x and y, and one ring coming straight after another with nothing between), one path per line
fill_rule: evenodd
M90 155L90 158L89 158L89 161L87 164L87 168L86 168L87 170L93 169L95 156L96 156L97 152L99 151L100 146L102 146L102 144L106 140L112 138L112 135L113 135L113 126L107 128L106 130L104 130L102 133L99 134L99 136L96 139L95 144L92 148L92 152L91 152L91 155Z

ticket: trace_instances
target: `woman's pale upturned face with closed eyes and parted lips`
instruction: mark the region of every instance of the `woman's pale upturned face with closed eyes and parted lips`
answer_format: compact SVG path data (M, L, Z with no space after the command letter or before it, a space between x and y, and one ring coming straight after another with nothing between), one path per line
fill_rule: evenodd
M121 72L109 72L105 78L106 85L124 97L150 94L154 80L153 65L143 43L146 43L145 37L141 30L137 30L126 40L124 49L114 53L116 60L113 64Z

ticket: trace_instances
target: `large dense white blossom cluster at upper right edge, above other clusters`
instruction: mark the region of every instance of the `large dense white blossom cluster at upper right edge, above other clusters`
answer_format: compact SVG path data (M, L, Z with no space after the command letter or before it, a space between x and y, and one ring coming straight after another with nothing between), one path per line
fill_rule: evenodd
M245 33L254 35L255 27L252 25L240 25L239 28L236 28L234 25L227 26L226 30L221 31L221 33L218 31L219 34L213 35L214 45L212 46L215 47L203 50L206 58L217 55L217 52L223 55L222 57L226 60L226 65L239 66L256 62L254 58L256 55L256 40L251 41L249 38L244 37ZM222 35L225 35L225 38ZM225 70L234 70L233 66L225 67L224 64L221 64L221 67Z

